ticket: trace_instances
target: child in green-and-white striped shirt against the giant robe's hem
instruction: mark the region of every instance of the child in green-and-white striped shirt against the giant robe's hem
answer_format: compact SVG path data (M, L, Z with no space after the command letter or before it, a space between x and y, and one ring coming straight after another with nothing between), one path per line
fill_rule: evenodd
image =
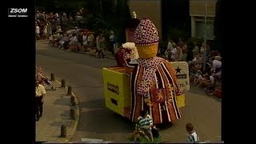
M148 114L147 110L142 110L141 116L138 117L137 121L138 127L145 130L145 133L150 136L151 142L154 141L151 127L153 126L153 120Z

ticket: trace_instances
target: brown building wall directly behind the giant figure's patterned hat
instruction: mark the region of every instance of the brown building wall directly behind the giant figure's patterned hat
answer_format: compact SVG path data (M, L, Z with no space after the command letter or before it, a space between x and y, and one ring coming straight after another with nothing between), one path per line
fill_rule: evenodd
M136 12L137 18L150 18L158 28L158 35L162 38L162 8L161 0L129 0L130 14Z

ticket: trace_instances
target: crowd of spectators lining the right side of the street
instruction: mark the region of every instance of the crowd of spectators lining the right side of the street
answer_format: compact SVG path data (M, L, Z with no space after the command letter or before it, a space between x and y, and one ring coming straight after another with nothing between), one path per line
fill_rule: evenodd
M205 50L206 49L206 50ZM206 68L203 70L204 53L206 51ZM165 56L170 62L188 62L190 82L192 86L202 87L206 94L222 97L222 57L217 50L211 50L210 44L194 42L193 59L187 60L187 44L180 39L178 44L169 39Z

